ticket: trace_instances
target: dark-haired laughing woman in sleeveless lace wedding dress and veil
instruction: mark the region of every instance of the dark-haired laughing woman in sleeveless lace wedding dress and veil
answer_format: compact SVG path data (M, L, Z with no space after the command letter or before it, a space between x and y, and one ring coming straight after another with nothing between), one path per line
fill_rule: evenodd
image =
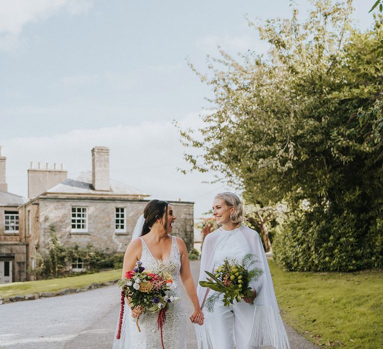
M175 220L173 209L168 202L160 200L148 202L144 215L137 221L132 242L126 249L122 275L132 270L138 260L147 270L153 272L156 269L166 269L174 280L169 297L181 297L180 281L182 281L194 307L190 320L202 325L203 313L199 309L187 247L181 238L169 235ZM127 299L125 309L121 338L117 340L115 336L113 349L162 348L157 314L151 312L141 314L139 308L131 310ZM135 318L139 315L141 332L138 332L135 322ZM186 349L186 314L182 299L171 303L166 312L163 339L166 349Z

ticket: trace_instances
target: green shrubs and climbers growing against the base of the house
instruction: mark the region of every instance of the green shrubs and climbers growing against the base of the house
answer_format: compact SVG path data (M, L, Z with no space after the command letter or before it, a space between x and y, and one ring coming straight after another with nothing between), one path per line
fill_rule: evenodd
M94 273L100 269L121 269L124 253L99 250L92 245L81 247L78 244L64 246L56 235L54 225L50 225L50 241L45 255L36 257L37 267L31 270L38 278L58 278L83 273ZM71 261L80 258L86 266L85 272L71 272Z

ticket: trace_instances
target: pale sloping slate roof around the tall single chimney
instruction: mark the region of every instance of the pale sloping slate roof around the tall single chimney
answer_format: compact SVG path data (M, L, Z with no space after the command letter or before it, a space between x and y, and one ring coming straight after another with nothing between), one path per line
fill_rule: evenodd
M150 194L122 184L113 179L109 180L110 191L94 190L92 185L92 172L81 172L74 178L68 178L54 187L46 190L46 193L64 193L64 194L103 194L103 195L131 195L131 196L150 196Z

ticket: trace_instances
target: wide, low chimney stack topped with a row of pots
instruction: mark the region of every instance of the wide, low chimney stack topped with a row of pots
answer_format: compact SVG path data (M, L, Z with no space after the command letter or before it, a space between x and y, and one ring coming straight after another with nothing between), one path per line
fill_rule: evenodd
M40 163L38 163L37 169L33 169L33 163L30 163L30 169L28 170L28 198L32 199L58 183L63 182L68 177L68 172L64 170L61 164L61 169L56 169L56 164L53 165L53 169L49 169L49 165L46 164L45 169L41 169Z

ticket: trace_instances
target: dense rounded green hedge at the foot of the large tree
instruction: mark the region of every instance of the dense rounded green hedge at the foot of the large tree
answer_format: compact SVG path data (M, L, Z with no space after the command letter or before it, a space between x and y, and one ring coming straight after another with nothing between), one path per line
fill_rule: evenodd
M279 227L273 258L293 271L383 268L382 225L383 218L361 220L350 210L337 215L320 208L298 209Z

